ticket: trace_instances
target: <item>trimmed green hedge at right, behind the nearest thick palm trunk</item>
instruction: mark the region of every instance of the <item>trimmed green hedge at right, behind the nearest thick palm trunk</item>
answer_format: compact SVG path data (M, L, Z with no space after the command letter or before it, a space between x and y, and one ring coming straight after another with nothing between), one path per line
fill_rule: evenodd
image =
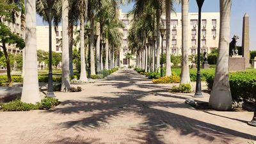
M207 76L207 87L212 89L214 74ZM229 75L232 99L256 100L256 72L233 72Z

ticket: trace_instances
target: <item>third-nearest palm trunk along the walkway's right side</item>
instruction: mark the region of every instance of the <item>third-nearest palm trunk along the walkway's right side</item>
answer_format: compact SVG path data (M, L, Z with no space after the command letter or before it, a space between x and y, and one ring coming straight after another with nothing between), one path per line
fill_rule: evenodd
M166 7L166 76L172 76L171 70L171 0L165 0Z

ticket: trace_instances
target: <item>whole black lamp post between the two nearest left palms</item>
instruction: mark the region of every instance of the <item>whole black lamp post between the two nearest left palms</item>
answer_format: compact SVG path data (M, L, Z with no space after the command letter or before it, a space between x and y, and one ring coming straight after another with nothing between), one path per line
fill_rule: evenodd
M52 13L54 10L52 6L54 4L54 0L47 0L47 8L44 9L44 12L48 18L49 24L49 73L48 73L48 90L46 93L47 97L56 97L53 92L53 84L52 84Z

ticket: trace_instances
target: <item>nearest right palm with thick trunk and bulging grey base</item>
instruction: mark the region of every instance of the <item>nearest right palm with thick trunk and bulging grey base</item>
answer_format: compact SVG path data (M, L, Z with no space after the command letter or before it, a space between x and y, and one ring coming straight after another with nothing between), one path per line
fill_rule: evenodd
M209 99L209 106L220 111L232 108L232 96L228 81L230 11L231 0L220 0L220 40L214 84Z

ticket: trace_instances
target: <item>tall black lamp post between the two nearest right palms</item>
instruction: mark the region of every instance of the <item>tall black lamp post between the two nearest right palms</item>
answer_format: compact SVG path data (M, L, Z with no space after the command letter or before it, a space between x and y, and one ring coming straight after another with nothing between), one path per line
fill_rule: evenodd
M200 74L200 50L201 50L201 10L204 0L196 0L198 6L198 45L197 45L197 74L196 74L196 93L194 97L203 97Z

